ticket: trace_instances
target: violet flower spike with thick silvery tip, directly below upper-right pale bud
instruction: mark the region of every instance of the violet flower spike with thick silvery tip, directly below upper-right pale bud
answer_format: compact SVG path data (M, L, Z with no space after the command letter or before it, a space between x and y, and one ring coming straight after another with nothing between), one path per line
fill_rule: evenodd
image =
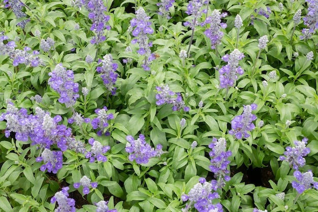
M238 79L237 75L242 75L244 73L243 69L238 66L239 60L243 57L244 54L238 49L234 49L230 55L226 54L222 56L222 59L228 64L219 69L220 88L228 88L229 86L233 87L234 83Z

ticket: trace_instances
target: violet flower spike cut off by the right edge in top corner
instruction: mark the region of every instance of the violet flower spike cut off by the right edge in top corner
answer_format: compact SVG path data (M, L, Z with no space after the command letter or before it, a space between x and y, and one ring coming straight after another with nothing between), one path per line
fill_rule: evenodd
M308 3L308 13L303 18L304 24L307 28L303 28L301 39L309 39L316 29L318 29L318 1L317 0L306 0Z

